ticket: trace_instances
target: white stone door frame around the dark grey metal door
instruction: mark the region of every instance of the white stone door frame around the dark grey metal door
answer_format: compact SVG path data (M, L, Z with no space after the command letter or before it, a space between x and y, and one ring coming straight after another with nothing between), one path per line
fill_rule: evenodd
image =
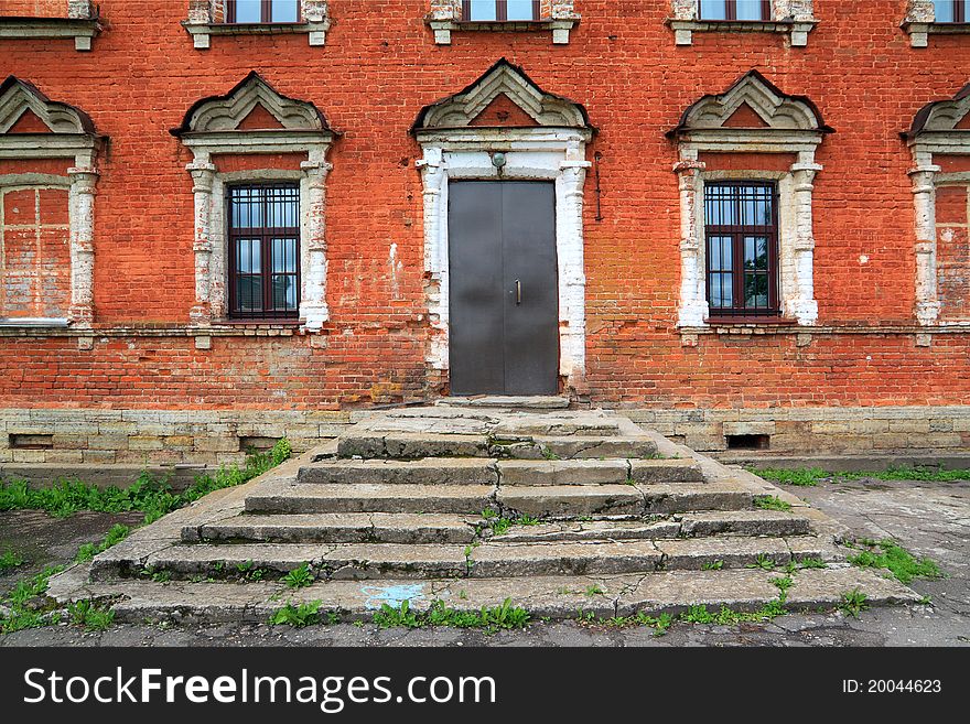
M425 361L449 370L449 204L451 180L552 181L559 272L559 375L567 389L585 380L583 184L592 132L574 128L455 128L418 131L423 158L425 302L431 342Z

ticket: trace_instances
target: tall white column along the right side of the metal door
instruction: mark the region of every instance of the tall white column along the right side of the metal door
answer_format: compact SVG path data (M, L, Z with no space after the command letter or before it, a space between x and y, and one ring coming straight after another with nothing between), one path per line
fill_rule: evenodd
M556 239L559 262L559 374L569 387L585 391L586 379L586 273L583 249L583 185L585 147L567 145L557 182Z

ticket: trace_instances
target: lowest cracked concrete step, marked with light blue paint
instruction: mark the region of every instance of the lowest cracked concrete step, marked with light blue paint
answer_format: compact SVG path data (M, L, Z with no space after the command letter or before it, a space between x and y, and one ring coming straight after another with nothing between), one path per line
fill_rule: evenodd
M657 616L679 614L693 605L712 612L757 610L777 601L770 580L777 573L761 570L671 571L649 575L535 576L529 579L463 579L446 581L385 580L379 582L319 582L291 591L277 582L237 583L119 580L88 583L86 569L74 566L54 576L47 591L60 603L80 598L115 599L119 623L180 624L266 623L288 603L321 602L320 610L344 620L370 620L381 604L398 606L408 599L414 612L436 601L459 610L500 606L510 599L526 608L532 620L575 618L578 610L595 616ZM914 604L910 588L856 568L799 571L788 591L790 610L833 608L843 593L859 590L872 606Z

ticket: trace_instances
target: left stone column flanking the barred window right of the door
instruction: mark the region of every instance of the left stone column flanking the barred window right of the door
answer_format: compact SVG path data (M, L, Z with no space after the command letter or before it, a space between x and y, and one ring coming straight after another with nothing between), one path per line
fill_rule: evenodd
M709 314L701 235L697 225L703 183L701 172L705 168L698 161L696 151L681 151L681 161L673 165L680 188L680 313L677 324L681 327L703 326Z

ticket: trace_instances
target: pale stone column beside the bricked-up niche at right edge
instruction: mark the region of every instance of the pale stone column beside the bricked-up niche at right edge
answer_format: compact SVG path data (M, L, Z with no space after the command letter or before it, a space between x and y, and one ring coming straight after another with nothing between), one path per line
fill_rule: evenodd
M916 209L916 320L934 324L939 317L936 270L936 174L940 168L929 159L917 159L909 172Z

